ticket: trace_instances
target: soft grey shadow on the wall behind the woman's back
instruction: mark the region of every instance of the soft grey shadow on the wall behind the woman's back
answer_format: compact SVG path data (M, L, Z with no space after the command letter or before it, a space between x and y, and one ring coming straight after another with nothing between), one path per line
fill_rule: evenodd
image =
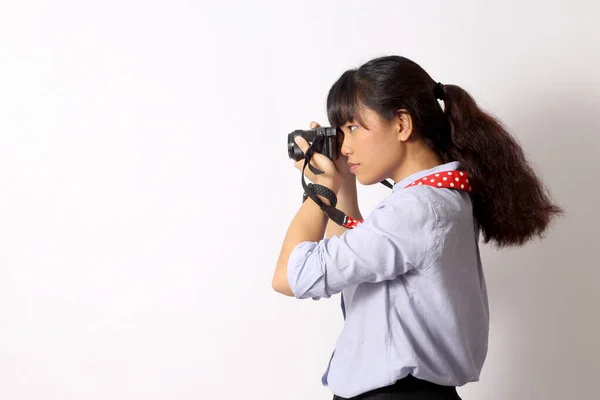
M565 214L542 241L499 252L483 247L489 373L484 367L481 385L467 385L465 398L593 397L600 359L600 100L587 89L522 104L523 114L511 121Z

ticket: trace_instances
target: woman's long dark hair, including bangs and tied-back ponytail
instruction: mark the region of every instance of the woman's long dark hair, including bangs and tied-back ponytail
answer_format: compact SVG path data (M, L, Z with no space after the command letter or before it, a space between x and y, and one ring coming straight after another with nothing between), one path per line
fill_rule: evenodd
M470 175L473 214L485 243L513 246L543 237L551 219L562 213L502 124L465 90L438 85L415 62L380 57L342 74L327 97L329 122L362 124L361 107L387 121L398 110L408 111L415 133L441 160L460 163Z

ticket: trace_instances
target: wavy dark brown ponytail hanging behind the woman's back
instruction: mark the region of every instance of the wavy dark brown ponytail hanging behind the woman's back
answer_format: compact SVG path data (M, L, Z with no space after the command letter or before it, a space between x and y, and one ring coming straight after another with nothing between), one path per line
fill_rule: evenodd
M471 177L473 213L484 241L502 247L543 237L562 210L552 203L517 141L465 90L445 85L443 91L448 155Z

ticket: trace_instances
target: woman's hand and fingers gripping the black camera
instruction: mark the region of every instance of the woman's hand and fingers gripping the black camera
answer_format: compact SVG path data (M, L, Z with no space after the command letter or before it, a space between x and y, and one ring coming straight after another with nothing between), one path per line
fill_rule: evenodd
M320 125L314 121L310 123L311 129L318 128L319 126ZM301 136L297 136L295 140L298 144L298 147L300 147L300 150L302 150L302 152L306 154L306 151L310 147L310 144L306 141L306 139L304 139ZM304 162L304 159L296 161L294 163L294 166L296 167L296 169L302 172ZM348 175L352 175L350 174L347 157L340 156L334 164L334 162L331 161L328 157L315 152L312 158L310 159L310 164L313 167L323 171L324 173L320 175L315 175L310 170L310 168L306 166L306 169L304 170L304 175L306 176L306 178L315 184L323 185L331 189L336 194L342 186L344 179L348 179Z

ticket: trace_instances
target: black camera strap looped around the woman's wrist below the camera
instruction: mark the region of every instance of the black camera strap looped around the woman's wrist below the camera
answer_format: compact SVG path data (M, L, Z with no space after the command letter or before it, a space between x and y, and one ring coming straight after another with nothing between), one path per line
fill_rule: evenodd
M343 211L335 208L335 206L337 205L337 196L335 195L335 193L331 189L329 189L323 185L318 185L318 184L314 184L314 183L307 185L306 181L304 180L304 171L306 170L306 166L308 166L308 168L311 170L311 172L315 175L321 175L324 173L323 171L319 170L318 168L315 168L310 163L310 160L312 159L312 156L315 153L314 149L318 148L318 146L321 144L322 141L323 141L323 135L318 134L315 137L315 140L313 141L313 143L308 148L308 150L306 150L306 154L304 156L304 167L302 168L302 187L304 188L303 201L306 200L307 197L310 197L315 203L317 203L317 205L321 208L321 210L323 210L323 212L325 212L325 214L333 222L335 222L336 224L338 224L340 226L343 226L344 228L352 229L356 226L356 221L354 219L348 217L346 214L344 214ZM393 188L393 185L391 183L389 183L388 181L382 181L381 183L384 184L385 186L389 187L390 189ZM321 199L318 197L318 195L327 198L329 200L329 202L331 203L331 205L327 205L327 204L323 203L321 201Z

